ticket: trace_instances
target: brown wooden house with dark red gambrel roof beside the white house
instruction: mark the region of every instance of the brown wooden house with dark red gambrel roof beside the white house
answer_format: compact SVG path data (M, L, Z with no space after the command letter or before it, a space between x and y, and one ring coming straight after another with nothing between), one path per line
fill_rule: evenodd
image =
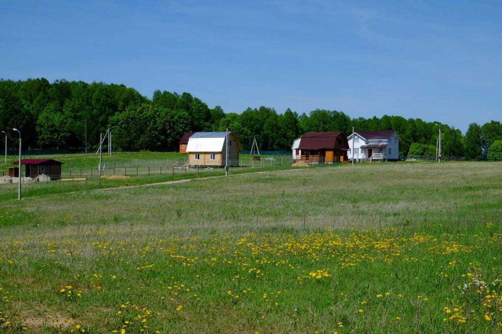
M347 161L348 142L343 132L307 132L293 143L296 160L308 163Z

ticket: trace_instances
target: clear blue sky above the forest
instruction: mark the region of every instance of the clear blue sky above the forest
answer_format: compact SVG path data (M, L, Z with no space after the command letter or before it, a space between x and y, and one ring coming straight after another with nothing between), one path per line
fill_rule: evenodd
M0 3L0 77L402 115L502 121L501 1Z

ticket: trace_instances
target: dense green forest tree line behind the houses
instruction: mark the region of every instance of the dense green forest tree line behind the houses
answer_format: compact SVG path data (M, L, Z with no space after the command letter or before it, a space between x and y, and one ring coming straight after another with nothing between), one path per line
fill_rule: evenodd
M247 108L225 113L209 108L189 93L156 90L153 98L133 88L101 82L44 78L0 80L0 131L8 133L9 147L17 147L17 127L23 149L83 148L98 146L100 132L109 127L118 150L176 150L185 131L233 131L243 149L250 149L256 135L263 150L289 150L293 140L309 131L394 129L402 141L400 155L434 155L438 127L443 131L443 155L486 159L490 145L502 139L502 124L472 123L462 135L459 129L439 122L401 116L351 118L336 110L316 109L298 114L287 109Z

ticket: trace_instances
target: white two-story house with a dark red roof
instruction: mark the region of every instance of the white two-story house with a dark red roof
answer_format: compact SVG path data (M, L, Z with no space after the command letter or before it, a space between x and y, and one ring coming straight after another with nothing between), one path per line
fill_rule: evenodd
M348 137L348 159L354 161L397 161L401 137L394 130L355 131ZM353 152L352 152L353 147Z

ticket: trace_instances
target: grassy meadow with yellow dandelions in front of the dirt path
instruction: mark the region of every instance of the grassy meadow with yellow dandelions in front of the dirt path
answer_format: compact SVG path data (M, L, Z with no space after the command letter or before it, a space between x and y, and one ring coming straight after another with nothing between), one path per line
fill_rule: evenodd
M0 331L500 332L501 171L342 165L24 201L9 188Z

